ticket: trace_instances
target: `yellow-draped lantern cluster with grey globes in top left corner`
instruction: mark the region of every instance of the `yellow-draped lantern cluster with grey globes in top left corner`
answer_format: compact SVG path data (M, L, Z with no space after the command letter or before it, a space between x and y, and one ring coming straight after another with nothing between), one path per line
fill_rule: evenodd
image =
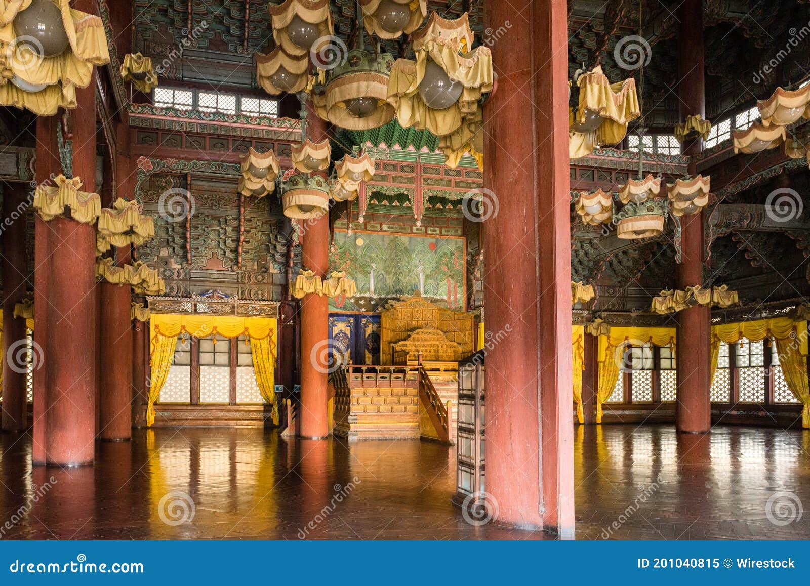
M0 55L0 105L40 116L75 108L75 88L109 63L101 19L71 10L69 0L2 2Z

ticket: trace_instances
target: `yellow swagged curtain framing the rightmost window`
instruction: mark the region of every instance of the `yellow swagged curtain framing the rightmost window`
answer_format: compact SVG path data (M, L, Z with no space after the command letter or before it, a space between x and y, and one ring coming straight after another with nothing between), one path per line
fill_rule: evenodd
M741 338L753 342L774 338L779 353L779 363L785 376L787 388L804 406L802 426L810 428L810 391L808 391L808 322L794 321L791 317L774 317L770 320L744 321L739 324L712 326L712 373L717 366L714 346L718 352L720 342L735 344Z

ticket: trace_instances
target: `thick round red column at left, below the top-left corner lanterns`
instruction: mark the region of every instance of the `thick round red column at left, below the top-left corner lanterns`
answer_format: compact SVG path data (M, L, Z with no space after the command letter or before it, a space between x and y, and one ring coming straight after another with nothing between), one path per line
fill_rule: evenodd
M77 8L93 12L92 4L78 2ZM83 191L95 193L95 73L89 87L76 89L76 101L78 108L71 113L73 176L81 178ZM64 217L52 219L48 227L46 458L53 465L87 465L93 463L96 448L96 227Z

